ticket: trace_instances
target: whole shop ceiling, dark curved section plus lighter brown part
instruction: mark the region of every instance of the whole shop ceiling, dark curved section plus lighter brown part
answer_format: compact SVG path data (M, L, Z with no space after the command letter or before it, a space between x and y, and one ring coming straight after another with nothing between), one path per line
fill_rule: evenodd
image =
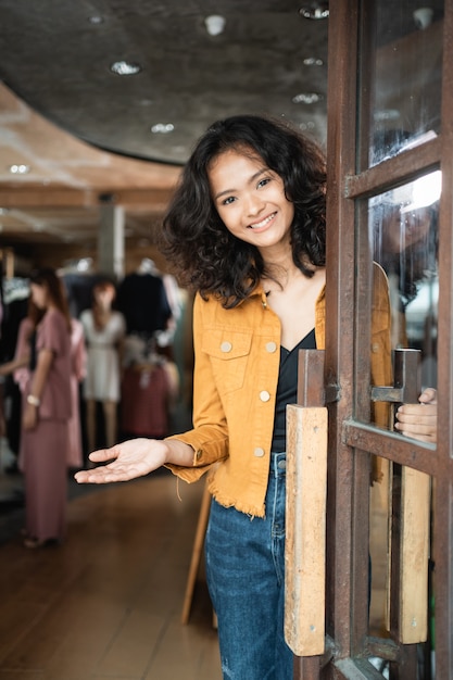
M414 30L387 3L382 35ZM328 18L305 14L327 5L1 0L1 244L27 261L51 245L92 253L108 203L124 206L126 249L147 248L196 140L230 114L282 116L325 144ZM117 62L139 72L118 75Z

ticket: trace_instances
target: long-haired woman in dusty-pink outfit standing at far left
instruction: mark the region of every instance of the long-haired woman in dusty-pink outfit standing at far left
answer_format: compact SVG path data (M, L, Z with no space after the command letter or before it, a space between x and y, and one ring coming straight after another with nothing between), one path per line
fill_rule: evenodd
M36 363L24 393L21 465L25 477L26 547L61 542L66 533L71 400L71 317L62 281L50 268L30 276Z

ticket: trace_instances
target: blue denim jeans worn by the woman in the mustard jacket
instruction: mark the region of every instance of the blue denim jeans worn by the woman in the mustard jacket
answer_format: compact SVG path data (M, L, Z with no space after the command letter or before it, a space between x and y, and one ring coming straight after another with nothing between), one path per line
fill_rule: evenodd
M266 517L212 501L206 577L228 680L292 680L284 638L286 454L270 456Z

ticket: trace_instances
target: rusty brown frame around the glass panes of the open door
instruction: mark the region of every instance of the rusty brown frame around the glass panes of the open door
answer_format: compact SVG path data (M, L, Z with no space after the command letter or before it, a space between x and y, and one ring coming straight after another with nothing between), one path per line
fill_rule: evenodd
M366 656L388 658L401 669L392 677L410 677L412 645L368 637L366 575L368 454L431 475L433 479L433 588L436 593L436 667L439 678L453 677L453 3L444 8L441 137L356 172L356 116L360 0L330 3L327 193L327 318L325 394L329 403L327 612L324 657L294 660L294 680L381 678ZM366 11L366 3L363 3ZM362 8L363 9L363 8ZM361 53L361 60L368 55ZM363 95L361 95L363 97ZM365 95L366 97L366 95ZM363 165L358 159L358 165ZM440 167L442 197L439 218L438 376L439 440L437 446L405 440L368 425L354 393L369 362L365 342L355 351L357 320L367 312L364 243L353 225L373 194ZM368 277L368 285L369 277ZM369 306L369 305L368 305ZM354 324L352 323L354 320ZM363 322L361 327L366 324ZM357 366L361 370L357 372ZM354 379L351 378L354 377ZM412 669L412 670L411 670ZM413 676L411 676L413 677Z

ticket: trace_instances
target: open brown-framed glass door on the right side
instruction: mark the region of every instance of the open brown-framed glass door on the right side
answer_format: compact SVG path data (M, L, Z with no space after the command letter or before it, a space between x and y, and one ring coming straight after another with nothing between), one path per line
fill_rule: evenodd
M326 635L298 680L453 677L453 5L419 4L330 3ZM394 428L428 387L437 443Z

